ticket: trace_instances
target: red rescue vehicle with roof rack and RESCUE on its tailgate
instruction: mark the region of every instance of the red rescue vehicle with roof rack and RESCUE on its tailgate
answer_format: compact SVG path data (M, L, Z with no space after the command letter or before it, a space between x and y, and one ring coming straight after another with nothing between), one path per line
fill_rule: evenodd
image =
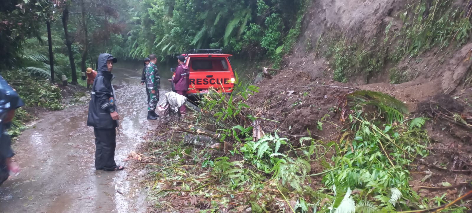
M210 49L192 49L182 55L185 56L185 65L190 69L188 98L198 99L200 95L208 93L210 88L219 93L233 92L236 79L229 61L232 55ZM174 84L172 91L175 91Z

